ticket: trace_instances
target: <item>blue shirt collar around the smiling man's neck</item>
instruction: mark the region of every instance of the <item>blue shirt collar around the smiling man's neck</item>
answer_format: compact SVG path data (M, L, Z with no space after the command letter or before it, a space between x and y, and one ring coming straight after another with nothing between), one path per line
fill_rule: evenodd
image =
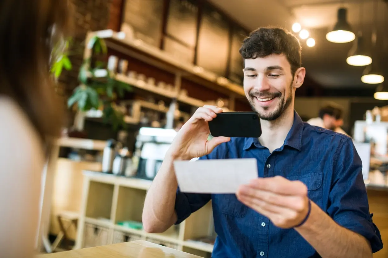
M298 113L294 111L294 122L287 134L286 139L284 140L284 145L288 145L300 151L302 147L302 133L303 121ZM258 138L245 138L244 150L248 150L252 145L255 145L258 148L263 148Z

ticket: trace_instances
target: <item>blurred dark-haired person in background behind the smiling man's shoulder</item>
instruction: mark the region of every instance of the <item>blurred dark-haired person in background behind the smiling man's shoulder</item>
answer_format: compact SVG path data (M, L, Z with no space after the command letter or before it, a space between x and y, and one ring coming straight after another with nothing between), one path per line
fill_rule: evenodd
M342 109L327 105L319 110L319 116L307 121L310 125L319 126L332 130L337 133L348 135L342 128L343 126ZM349 136L349 135L348 135Z

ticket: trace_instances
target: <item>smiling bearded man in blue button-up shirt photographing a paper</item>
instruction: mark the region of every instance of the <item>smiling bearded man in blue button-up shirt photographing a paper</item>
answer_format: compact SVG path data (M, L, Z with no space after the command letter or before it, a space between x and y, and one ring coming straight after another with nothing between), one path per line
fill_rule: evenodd
M295 91L306 73L298 39L282 29L259 28L240 53L244 91L260 117L262 135L208 141L208 121L222 110L197 109L147 193L145 230L163 232L211 200L217 232L213 258L372 257L382 248L381 236L369 214L352 140L303 123L294 111ZM182 193L173 161L194 157L255 158L258 178L236 195Z

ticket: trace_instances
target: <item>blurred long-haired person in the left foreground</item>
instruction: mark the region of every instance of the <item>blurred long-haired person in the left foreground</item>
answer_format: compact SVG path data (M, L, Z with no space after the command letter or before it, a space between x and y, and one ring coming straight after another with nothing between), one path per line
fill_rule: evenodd
M66 0L0 2L1 257L34 255L42 171L63 125L49 72L67 10Z

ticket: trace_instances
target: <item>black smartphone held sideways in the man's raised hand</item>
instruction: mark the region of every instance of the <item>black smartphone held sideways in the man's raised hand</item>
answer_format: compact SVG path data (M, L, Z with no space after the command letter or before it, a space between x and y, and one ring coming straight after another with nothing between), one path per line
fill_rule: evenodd
M260 137L262 127L256 112L222 112L209 122L213 137Z

